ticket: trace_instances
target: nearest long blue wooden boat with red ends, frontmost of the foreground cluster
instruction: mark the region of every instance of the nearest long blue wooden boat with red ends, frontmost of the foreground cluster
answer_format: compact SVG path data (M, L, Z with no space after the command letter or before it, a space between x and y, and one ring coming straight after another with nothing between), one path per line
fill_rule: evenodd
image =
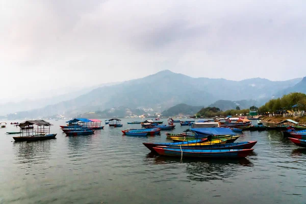
M153 147L159 155L193 158L244 158L254 149L177 149L166 146Z

